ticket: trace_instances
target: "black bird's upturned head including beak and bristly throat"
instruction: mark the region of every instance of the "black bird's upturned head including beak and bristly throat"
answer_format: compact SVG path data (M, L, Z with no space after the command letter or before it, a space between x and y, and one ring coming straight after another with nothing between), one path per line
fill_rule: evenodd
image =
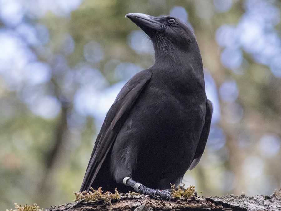
M136 23L151 39L155 56L176 56L175 52L195 53L200 51L193 31L180 19L172 16L150 16L129 13L128 17Z

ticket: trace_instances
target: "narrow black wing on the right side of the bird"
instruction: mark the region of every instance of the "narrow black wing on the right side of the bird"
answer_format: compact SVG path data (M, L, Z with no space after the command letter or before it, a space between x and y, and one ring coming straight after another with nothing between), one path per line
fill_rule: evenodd
M201 136L200 136L200 139L199 139L198 146L196 148L195 155L193 157L193 161L190 164L189 170L192 170L197 165L197 163L199 162L199 160L200 160L200 158L203 154L203 151L204 151L206 143L207 143L208 135L209 135L209 132L210 132L212 113L213 113L212 103L211 103L210 100L207 100L205 123L204 123L204 126L203 126L203 130L201 132Z

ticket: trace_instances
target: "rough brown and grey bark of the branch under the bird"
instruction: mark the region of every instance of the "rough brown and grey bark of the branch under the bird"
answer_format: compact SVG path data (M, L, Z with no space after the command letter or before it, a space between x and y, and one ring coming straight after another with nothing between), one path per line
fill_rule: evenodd
M281 210L281 196L216 196L216 197L192 197L172 198L163 201L157 196L120 194L118 201L98 200L85 202L84 200L52 206L45 211L94 211L94 210L224 210L224 211L257 211L257 210Z

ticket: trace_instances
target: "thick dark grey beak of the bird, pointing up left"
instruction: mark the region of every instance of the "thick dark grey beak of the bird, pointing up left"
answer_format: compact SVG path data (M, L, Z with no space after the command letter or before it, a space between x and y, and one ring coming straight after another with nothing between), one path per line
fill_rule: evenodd
M140 27L148 36L152 36L155 32L160 30L160 23L157 17L145 15L141 13L129 13L125 17L130 20L138 27Z

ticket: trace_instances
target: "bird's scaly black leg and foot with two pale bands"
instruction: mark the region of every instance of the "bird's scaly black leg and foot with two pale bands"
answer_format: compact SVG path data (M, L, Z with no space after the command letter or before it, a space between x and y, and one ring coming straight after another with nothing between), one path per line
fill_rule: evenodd
M144 186L141 183L137 183L136 181L132 180L131 177L125 177L123 179L123 183L127 186L134 188L134 190L138 193L145 194L145 195L157 195L160 196L161 199L168 199L171 202L171 193L169 190L158 190L158 189L151 189Z

